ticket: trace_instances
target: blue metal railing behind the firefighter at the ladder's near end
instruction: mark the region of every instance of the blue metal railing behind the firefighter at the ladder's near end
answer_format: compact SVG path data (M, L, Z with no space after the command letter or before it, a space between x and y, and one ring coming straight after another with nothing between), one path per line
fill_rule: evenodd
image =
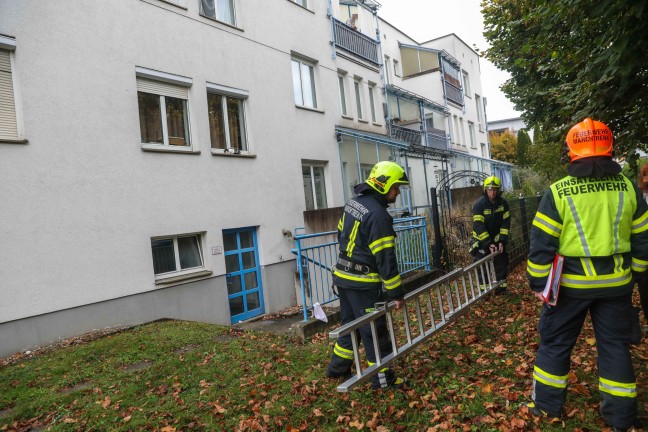
M303 230L296 228L295 232ZM427 220L423 216L394 219L396 256L401 275L425 269L430 270ZM304 321L315 303L324 305L338 298L331 289L330 269L337 263L337 231L295 235L297 272L301 288Z

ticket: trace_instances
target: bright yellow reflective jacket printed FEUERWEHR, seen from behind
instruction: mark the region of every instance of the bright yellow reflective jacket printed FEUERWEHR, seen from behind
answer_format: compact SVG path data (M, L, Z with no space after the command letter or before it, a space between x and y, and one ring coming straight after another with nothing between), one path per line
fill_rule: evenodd
M565 257L560 295L632 292L648 269L648 204L624 175L567 176L545 193L531 227L527 277L543 290L555 254Z

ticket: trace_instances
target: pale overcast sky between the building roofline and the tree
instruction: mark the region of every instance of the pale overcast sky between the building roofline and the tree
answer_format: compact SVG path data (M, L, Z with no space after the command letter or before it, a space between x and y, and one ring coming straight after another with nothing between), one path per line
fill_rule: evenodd
M468 46L481 51L488 48L481 15L481 0L377 0L382 6L378 16L417 42L454 33ZM509 77L491 62L481 58L482 92L488 98L489 121L519 117L520 112L504 96L500 86Z

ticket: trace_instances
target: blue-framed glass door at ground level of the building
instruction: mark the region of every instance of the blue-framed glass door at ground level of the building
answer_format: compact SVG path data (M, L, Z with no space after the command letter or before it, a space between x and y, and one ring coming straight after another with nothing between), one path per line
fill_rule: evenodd
M264 312L256 229L223 230L223 245L230 319L235 324Z

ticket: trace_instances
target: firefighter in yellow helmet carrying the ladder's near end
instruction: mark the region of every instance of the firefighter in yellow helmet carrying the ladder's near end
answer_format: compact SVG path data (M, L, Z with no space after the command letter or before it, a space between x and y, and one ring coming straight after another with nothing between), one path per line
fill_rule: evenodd
M396 201L400 186L408 184L405 170L398 164L378 162L367 180L355 187L358 195L344 206L338 223L340 253L333 271L342 325L372 311L385 296L396 301L396 309L405 303L394 249L396 234L387 207ZM376 329L380 356L384 358L392 353L385 317L377 321ZM359 333L371 366L376 362L371 328L365 326ZM351 336L346 335L335 343L326 376L346 379L352 363ZM373 377L372 388L400 388L404 383L391 368L383 368Z

